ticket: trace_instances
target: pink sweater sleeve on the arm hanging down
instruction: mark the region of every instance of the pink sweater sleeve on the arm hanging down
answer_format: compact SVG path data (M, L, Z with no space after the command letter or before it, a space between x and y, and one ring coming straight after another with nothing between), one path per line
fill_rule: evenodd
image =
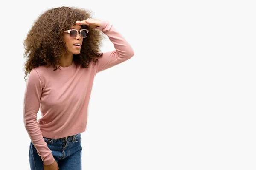
M41 79L37 71L32 69L27 79L24 95L23 122L38 155L41 156L42 161L44 161L44 165L50 165L55 161L55 159L52 156L52 151L44 141L37 122L37 113L40 108L42 89L43 85Z

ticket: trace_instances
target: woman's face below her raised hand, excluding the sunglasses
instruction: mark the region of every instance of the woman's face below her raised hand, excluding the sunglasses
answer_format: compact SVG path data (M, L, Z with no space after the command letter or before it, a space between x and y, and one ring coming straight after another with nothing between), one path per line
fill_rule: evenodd
M76 30L81 30L80 25L74 25L70 27L69 29L76 29ZM70 34L65 32L64 33L64 41L66 42L66 47L67 47L67 53L68 54L80 54L81 51L81 46L83 43L83 38L79 33L77 33L77 36L75 38L70 37ZM80 46L76 46L74 44L80 44Z

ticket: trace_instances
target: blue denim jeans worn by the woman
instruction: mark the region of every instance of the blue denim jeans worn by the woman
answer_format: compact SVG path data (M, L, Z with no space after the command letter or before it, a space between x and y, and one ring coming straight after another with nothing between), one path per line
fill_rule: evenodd
M52 155L58 163L59 170L82 169L81 133L58 139L44 137L44 141L52 150ZM29 164L31 170L44 170L41 156L38 155L32 141L29 146Z

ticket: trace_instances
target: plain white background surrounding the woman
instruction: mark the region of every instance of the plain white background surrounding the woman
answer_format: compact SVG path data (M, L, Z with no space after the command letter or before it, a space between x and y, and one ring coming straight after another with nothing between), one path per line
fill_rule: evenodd
M95 77L83 170L255 170L254 1L168 3L4 1L0 169L29 170L23 40L44 11L73 6L110 21L134 49ZM101 50L114 50L109 39Z

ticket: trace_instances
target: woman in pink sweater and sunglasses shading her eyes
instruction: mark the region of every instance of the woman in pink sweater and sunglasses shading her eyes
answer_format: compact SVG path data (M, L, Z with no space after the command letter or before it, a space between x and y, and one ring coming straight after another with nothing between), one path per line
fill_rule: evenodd
M99 52L101 32L116 50ZM134 51L108 21L64 6L44 12L24 46L29 77L23 120L31 139L30 168L81 170L81 133L86 130L93 79L130 59ZM37 121L39 109L42 117Z

